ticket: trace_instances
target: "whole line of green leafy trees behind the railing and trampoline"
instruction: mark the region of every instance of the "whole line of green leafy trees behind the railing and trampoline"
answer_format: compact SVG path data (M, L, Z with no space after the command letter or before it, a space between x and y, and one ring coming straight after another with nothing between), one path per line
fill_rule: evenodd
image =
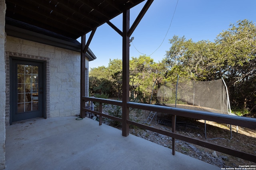
M240 108L244 114L256 108L255 23L242 20L230 24L214 42L194 42L177 35L169 41L171 47L158 63L145 55L130 60L130 101L150 103L153 93L152 101L157 102L160 86L175 84L178 75L197 81L223 77L234 109ZM93 68L89 76L90 93L118 98L122 95L122 60L110 60L108 67Z

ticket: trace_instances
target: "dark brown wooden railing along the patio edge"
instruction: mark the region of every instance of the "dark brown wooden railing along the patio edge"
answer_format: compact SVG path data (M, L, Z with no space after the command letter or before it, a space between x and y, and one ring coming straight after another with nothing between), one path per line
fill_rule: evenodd
M102 103L123 106L122 101L93 98L93 97L83 97L82 101L83 102L93 101L93 102L100 103L100 111L99 112L91 111L91 110L83 108L83 111L90 111L90 112L100 116L99 125L102 125L102 117L107 117L109 119L123 122L122 118L118 118L118 117L114 117L114 116L106 115L106 114L102 113ZM148 110L148 111L157 111L160 113L166 113L166 114L172 115L172 122L174 122L174 123L172 123L172 132L164 131L161 129L156 129L154 127L150 127L150 126L147 126L147 125L144 125L141 123L126 120L127 124L134 125L134 126L142 128L142 129L148 129L150 131L172 137L172 154L175 154L175 139L179 139L182 141L186 141L188 143L192 143L192 144L199 145L199 146L202 146L202 147L205 147L208 149L216 150L218 152L229 154L231 156L242 158L244 160L256 162L256 155L254 155L254 154L234 150L232 148L223 147L220 145L208 143L206 141L194 139L191 137L187 137L187 136L175 133L176 115L182 116L182 117L190 117L190 118L194 118L194 119L215 121L218 123L226 123L226 124L230 124L230 125L238 125L238 126L248 127L248 128L252 128L252 129L256 129L256 119L255 118L240 117L240 116L234 116L234 115L224 115L224 114L219 114L219 113L210 113L210 112L205 112L205 111L188 110L188 109L181 109L181 108L175 108L175 107L157 106L157 105L141 104L141 103L134 103L134 102L127 102L126 106L131 107L131 108L136 108L136 109Z

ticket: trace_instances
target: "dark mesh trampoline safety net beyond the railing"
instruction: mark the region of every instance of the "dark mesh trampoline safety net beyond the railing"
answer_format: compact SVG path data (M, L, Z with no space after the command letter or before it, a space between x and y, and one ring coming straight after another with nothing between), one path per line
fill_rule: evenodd
M176 84L166 83L158 89L157 99L166 106L230 114L223 79L202 82L178 77Z

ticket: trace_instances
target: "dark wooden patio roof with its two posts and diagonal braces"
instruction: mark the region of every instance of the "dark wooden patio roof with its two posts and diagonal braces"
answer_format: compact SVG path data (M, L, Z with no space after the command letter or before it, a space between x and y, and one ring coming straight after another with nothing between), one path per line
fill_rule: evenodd
M122 135L129 135L129 37L154 0L147 0L130 27L130 8L144 0L6 0L6 21L12 27L15 21L33 25L56 35L76 40L81 37L81 113L85 101L85 56L96 28L108 23L122 36ZM110 22L123 14L122 30ZM28 29L19 25L20 29ZM40 30L39 29L39 30ZM31 30L30 30L31 31ZM85 35L90 33L86 42ZM51 35L53 36L53 35Z

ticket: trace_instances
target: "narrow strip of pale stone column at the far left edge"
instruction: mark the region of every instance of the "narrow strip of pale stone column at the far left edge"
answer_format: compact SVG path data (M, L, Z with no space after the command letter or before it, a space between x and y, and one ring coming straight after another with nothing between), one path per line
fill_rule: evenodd
M0 169L5 167L5 0L0 0Z

